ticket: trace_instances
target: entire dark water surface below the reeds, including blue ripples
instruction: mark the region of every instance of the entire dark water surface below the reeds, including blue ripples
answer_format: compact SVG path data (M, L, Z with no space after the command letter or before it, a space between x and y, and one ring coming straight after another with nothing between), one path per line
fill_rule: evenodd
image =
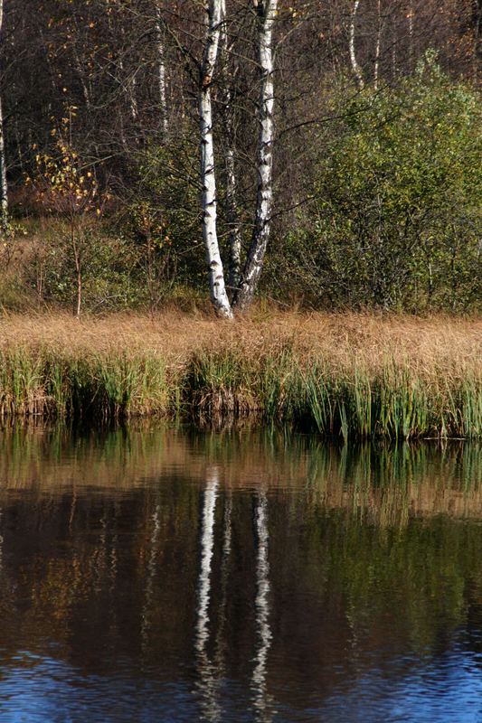
M0 720L482 721L482 448L0 436Z

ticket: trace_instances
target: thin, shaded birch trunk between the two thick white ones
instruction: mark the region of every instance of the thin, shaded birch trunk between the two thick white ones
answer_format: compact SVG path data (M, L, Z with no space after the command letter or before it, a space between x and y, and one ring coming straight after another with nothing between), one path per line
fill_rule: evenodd
M234 73L230 77L229 70L229 42L226 28L226 3L222 0L222 31L221 31L221 50L222 50L222 82L224 84L222 92L223 107L223 135L224 135L224 171L226 174L226 221L229 230L230 242L230 268L229 268L229 286L235 291L240 286L241 281L241 228L239 222L239 214L237 208L237 192L238 184L236 181L235 169L235 153L234 153L234 118L232 108L232 80Z

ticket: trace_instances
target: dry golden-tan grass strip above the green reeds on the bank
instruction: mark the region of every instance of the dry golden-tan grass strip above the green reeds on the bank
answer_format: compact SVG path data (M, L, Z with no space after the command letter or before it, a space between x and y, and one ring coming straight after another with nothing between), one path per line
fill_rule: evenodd
M405 315L261 314L250 319L220 321L207 315L165 312L146 315L85 316L3 315L0 349L22 346L50 348L75 356L148 352L173 371L183 368L193 352L232 348L246 360L289 348L303 364L323 360L336 369L360 364L377 370L387 359L410 364L422 376L444 372L482 378L482 318Z

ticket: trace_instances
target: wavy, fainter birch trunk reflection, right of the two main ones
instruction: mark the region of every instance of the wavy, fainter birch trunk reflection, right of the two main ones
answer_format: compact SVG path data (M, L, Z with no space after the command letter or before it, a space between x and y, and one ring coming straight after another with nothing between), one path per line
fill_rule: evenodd
M271 646L271 629L269 627L268 501L264 491L258 494L254 522L258 545L256 599L254 603L258 652L254 658L255 667L251 678L251 690L257 719L264 723L264 721L269 721L273 717L269 709L270 701L266 692L266 662Z

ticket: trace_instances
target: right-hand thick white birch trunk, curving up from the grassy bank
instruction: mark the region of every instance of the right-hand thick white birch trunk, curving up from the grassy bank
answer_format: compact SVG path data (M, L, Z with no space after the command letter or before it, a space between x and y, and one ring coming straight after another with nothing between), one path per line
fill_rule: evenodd
M278 0L253 0L253 5L260 17L260 143L254 228L240 290L235 296L235 304L241 313L247 311L250 307L260 280L269 239L269 221L273 201L274 83L272 32L273 23L278 12Z

